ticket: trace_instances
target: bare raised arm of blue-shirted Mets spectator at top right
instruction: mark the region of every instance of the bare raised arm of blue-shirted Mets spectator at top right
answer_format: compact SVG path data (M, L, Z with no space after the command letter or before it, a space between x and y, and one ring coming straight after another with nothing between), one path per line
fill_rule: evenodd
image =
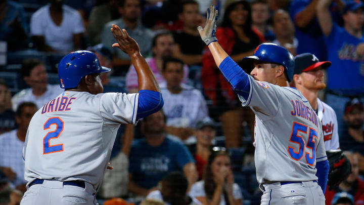
M331 33L333 20L330 14L329 6L332 0L321 0L316 6L317 20L323 33L328 36Z

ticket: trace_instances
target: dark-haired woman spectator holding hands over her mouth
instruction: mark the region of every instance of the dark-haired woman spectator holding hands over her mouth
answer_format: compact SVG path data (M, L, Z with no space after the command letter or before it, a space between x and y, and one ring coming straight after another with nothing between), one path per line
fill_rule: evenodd
M234 183L230 157L224 147L214 147L207 160L203 181L196 182L190 190L202 204L240 205L242 193Z

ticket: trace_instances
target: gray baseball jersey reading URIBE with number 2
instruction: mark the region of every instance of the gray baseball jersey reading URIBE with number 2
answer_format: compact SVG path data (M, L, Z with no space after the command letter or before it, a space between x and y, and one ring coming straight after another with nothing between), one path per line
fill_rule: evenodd
M40 108L25 139L25 179L81 180L98 189L120 124L135 124L139 94L63 92Z

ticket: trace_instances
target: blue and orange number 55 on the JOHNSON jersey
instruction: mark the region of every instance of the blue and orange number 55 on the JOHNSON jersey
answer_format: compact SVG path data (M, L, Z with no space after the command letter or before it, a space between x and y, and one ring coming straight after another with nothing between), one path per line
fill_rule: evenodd
M309 129L308 132L308 140L307 143L305 145L305 142L303 140L303 137L300 136L300 133L303 134L307 134L307 129ZM300 160L303 156L303 153L305 152L305 147L307 149L311 149L312 150L312 156L310 157L310 154L308 152L305 152L305 158L306 158L306 163L308 165L313 166L314 161L315 161L315 155L316 155L316 142L314 141L313 138L316 138L317 140L319 140L319 138L317 137L317 131L314 130L313 128L307 128L307 126L302 125L298 122L293 122L293 127L292 127L292 134L291 134L291 138L290 138L290 142L293 143L297 143L299 144L299 148L297 151L295 151L294 147L288 146L288 153L291 156L292 159L294 160Z

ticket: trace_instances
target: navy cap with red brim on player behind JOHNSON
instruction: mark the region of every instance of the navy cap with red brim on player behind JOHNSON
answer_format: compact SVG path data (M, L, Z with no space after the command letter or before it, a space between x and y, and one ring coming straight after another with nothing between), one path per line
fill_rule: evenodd
M331 65L330 61L319 61L319 59L311 53L303 53L295 57L294 74L301 74L302 72L313 70L319 66L327 68Z

